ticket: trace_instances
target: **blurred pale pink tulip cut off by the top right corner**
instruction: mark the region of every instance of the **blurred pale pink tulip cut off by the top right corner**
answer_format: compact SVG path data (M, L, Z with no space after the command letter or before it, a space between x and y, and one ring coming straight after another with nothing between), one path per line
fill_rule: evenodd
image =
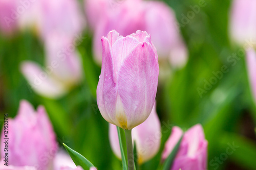
M256 41L256 1L233 0L230 18L231 38L244 45Z

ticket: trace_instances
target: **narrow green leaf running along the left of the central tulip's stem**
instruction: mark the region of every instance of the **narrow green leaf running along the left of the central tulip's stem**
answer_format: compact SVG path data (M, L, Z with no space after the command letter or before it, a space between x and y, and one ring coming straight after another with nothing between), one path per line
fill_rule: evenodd
M117 133L118 133L118 139L119 139L119 145L120 145L120 151L122 156L122 164L123 164L123 170L128 169L127 164L127 149L126 149L126 140L125 140L125 134L123 129L119 128L117 126Z

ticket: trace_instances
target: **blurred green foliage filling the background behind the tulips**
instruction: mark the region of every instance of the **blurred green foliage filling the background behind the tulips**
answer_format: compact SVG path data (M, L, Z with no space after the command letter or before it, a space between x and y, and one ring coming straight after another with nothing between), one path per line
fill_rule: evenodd
M229 40L228 16L230 1L205 0L187 24L182 14L192 11L197 0L165 1L172 7L183 26L181 33L187 44L189 60L180 69L173 69L172 77L159 86L157 112L163 123L187 129L197 123L203 125L208 140L208 169L217 169L211 160L226 152L228 143L239 148L218 164L218 169L256 169L256 108L248 83L244 56L236 63L228 57L242 47ZM35 94L19 70L20 62L33 60L44 64L42 43L32 32L14 37L0 35L0 112L14 117L19 101L28 100L35 107L44 105L56 131L58 141L81 153L98 169L121 169L110 148L108 123L102 118L96 102L96 87L100 66L93 59L92 33L83 33L86 39L78 46L82 56L84 79L79 86L58 100ZM228 70L218 79L213 73ZM205 90L205 82L212 77L216 84ZM205 90L198 92L198 88ZM164 126L163 126L164 127ZM168 127L164 127L165 129ZM163 145L170 128L161 138L157 156L140 169L156 169L161 161ZM214 161L215 162L215 161Z

